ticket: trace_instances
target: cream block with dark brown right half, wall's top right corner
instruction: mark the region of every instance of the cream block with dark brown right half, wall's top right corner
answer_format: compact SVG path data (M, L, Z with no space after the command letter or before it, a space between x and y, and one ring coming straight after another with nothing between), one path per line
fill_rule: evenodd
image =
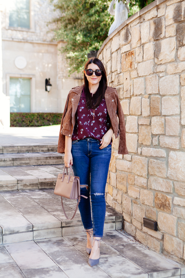
M166 26L182 20L182 3L174 3L166 8Z

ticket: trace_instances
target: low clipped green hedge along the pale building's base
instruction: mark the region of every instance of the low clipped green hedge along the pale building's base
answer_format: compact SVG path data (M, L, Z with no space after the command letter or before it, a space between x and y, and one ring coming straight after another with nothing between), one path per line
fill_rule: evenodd
M59 125L62 113L10 113L10 127Z

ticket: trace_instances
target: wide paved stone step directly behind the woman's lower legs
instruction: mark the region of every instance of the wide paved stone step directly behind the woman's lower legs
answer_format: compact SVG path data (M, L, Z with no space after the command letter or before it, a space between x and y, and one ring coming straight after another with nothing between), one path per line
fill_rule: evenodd
M0 244L53 238L83 233L79 210L73 220L66 220L61 197L54 189L1 191ZM69 217L73 216L76 200L63 198ZM106 206L104 231L122 229L123 216Z

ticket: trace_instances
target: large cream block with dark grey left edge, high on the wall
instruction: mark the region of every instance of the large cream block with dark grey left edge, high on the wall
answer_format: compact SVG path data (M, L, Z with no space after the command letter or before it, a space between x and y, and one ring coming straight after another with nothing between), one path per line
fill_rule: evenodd
M168 38L156 42L155 62L156 64L164 64L175 61L176 39Z

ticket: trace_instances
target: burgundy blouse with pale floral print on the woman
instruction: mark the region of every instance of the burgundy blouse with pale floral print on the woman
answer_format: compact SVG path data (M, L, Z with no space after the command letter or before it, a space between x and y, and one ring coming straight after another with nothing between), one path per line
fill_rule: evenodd
M73 130L72 140L93 138L101 141L103 135L110 129L110 118L107 112L105 99L103 98L96 109L86 109L86 93L82 95L76 111L76 123ZM93 111L94 110L94 111ZM112 140L110 145L112 144Z

